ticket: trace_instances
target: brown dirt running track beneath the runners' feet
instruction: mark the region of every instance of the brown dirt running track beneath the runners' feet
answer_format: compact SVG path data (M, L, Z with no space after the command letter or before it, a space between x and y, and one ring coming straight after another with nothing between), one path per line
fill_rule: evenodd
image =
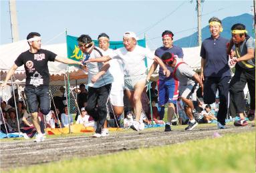
M1 142L0 168L1 170L8 170L13 166L29 166L65 158L94 156L122 150L176 144L188 140L213 138L214 132L221 135L252 132L255 131L255 127L249 124L249 126L242 128L228 126L225 130L217 130L217 127L212 126L191 132L184 130L162 131L162 128L156 128L142 132L113 132L111 136L104 138L90 138L84 135L47 138L41 143L35 143L33 140Z

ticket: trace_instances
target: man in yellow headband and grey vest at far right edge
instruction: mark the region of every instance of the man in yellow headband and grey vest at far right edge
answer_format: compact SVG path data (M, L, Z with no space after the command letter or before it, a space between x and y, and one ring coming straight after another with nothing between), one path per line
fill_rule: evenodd
M237 23L231 27L232 38L227 52L231 53L231 48L235 45L235 54L231 53L231 64L235 64L235 75L230 82L229 92L231 102L235 105L236 113L240 119L235 122L235 126L246 126L245 120L245 95L243 89L247 83L251 103L250 114L255 115L255 41L247 35L245 25Z

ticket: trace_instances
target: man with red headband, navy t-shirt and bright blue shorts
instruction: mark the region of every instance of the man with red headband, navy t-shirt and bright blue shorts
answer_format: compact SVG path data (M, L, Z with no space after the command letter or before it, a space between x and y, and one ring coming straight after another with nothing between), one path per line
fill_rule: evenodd
M158 57L162 57L162 55L166 52L173 53L176 57L177 61L182 61L183 51L180 47L173 45L173 36L172 31L164 31L162 33L162 47L156 49L154 55ZM156 69L157 64L154 62L154 69ZM166 66L170 71L172 71L172 67ZM154 70L152 69L152 70ZM152 71L151 71L152 72ZM176 81L172 75L166 77L164 73L162 73L162 67L159 68L159 80L158 80L158 105L161 107L160 110L160 119L164 118L164 105L168 103L167 110L167 122L165 125L164 132L170 132L170 122L175 114L174 104L177 102L178 98L178 81Z

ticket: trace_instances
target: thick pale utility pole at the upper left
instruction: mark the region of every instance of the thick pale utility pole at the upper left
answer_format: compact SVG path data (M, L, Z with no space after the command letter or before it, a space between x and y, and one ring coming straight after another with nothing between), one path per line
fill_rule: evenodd
M9 13L11 21L11 42L19 41L19 29L17 22L16 1L9 0Z

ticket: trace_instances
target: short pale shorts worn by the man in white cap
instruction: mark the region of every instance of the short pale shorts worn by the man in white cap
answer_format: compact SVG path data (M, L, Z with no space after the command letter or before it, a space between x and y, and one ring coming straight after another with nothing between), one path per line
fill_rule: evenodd
M134 76L124 76L124 90L134 90L134 86L138 81L145 81L146 83L146 74L134 75Z

